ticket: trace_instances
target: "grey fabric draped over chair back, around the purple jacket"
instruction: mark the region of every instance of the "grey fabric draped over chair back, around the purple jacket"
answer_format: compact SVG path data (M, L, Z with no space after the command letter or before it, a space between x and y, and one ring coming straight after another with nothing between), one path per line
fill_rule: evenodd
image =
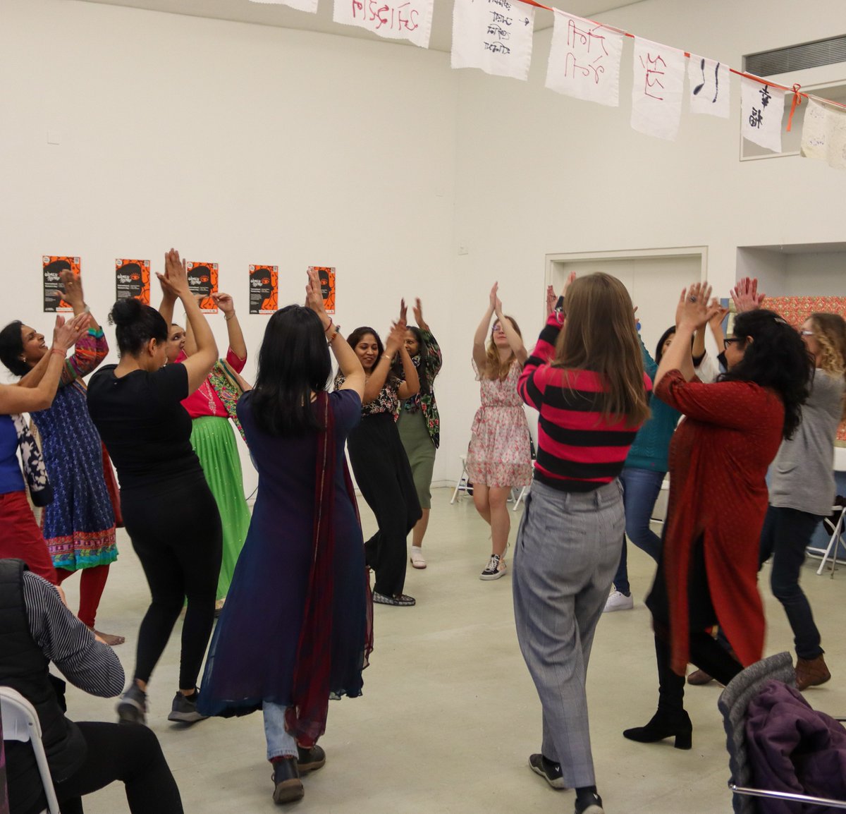
M732 779L739 786L752 785L749 755L746 751L746 709L749 702L758 695L761 685L775 679L795 686L793 657L790 653L777 653L750 664L728 682L722 690L717 707L722 712L722 723L726 729L728 747L728 768ZM735 814L755 814L757 806L754 797L734 795L732 800Z

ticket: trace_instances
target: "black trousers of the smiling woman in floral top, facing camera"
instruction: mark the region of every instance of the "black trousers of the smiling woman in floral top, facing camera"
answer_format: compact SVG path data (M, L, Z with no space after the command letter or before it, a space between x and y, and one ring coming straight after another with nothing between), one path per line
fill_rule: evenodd
M376 573L373 590L399 596L405 585L406 537L422 511L393 415L365 415L347 445L355 482L379 524L365 542L367 564Z

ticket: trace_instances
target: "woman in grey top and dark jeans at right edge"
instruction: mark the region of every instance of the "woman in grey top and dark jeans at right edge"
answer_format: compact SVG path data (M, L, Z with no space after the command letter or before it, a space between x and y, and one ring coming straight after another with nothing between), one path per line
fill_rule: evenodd
M761 564L772 557L770 584L794 631L796 686L825 684L832 677L820 646L799 570L805 547L836 493L834 439L846 418L846 322L837 314L811 314L801 328L816 371L802 408L799 432L782 443L772 466L770 505L761 530Z

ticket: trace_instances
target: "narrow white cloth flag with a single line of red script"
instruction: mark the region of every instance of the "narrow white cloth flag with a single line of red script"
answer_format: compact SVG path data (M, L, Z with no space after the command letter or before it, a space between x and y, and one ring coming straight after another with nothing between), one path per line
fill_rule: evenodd
M674 140L682 118L684 52L634 37L632 128Z

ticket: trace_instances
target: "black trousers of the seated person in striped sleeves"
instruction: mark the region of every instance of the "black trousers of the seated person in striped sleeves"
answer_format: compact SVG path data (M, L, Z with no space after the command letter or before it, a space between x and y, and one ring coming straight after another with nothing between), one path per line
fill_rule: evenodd
M129 723L76 724L88 745L85 763L56 784L62 814L83 814L84 795L120 780L132 814L182 814L182 800L162 747L151 729ZM47 807L47 800L27 814Z

